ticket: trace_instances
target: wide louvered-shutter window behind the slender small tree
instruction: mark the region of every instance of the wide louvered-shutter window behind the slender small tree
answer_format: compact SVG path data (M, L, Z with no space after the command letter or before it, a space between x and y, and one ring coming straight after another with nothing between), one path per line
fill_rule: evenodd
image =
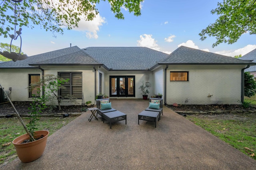
M64 83L65 89L60 89L59 95L65 98L72 95L74 98L82 99L82 72L59 72L61 78L69 79Z

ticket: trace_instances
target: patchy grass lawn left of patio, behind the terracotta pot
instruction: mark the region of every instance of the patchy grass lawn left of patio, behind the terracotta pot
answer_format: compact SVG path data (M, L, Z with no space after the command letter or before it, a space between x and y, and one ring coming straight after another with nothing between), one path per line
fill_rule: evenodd
M47 130L50 132L49 135L52 135L75 118L76 117L40 117L38 130ZM28 119L24 117L22 119L25 124L28 122ZM12 141L25 133L26 131L17 117L0 118L0 168L17 157Z

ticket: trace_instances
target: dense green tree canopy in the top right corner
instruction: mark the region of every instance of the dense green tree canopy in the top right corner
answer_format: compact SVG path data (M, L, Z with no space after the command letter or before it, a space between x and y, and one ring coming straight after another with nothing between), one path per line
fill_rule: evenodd
M220 17L199 35L202 41L207 35L215 37L212 47L220 43L233 44L244 33L256 34L256 0L223 0L211 13Z

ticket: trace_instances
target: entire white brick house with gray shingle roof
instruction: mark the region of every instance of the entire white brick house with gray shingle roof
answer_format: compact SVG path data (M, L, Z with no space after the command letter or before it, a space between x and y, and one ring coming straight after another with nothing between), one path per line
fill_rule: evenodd
M30 101L27 87L43 75L69 78L67 90L81 104L99 93L110 98L163 94L165 104L238 104L243 101L243 73L251 61L181 46L170 55L146 47L68 47L22 61L0 63L0 84L11 87L12 101ZM72 104L70 101L63 105Z

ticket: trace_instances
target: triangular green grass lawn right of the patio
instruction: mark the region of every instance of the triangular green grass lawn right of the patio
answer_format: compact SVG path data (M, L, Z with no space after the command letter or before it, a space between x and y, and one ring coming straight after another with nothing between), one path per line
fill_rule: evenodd
M231 114L231 113L230 113ZM241 119L187 115L187 119L256 160L256 114Z

